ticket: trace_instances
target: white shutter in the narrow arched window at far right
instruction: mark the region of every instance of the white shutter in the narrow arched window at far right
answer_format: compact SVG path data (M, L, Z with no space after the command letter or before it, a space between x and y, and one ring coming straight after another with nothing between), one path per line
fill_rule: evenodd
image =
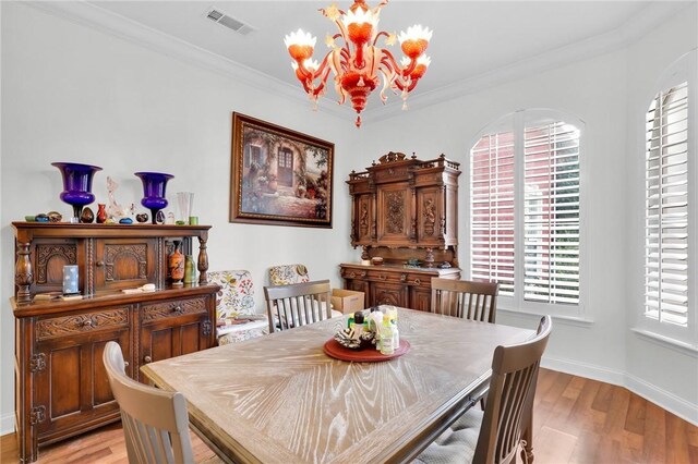
M688 86L659 93L647 111L645 314L688 322Z

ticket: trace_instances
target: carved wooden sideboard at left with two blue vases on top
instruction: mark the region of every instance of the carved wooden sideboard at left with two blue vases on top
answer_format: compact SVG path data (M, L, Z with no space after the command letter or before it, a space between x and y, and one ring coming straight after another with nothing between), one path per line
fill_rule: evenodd
M121 345L127 373L215 343L218 285L208 285L209 225L13 222L15 232L15 420L20 460L38 447L119 420L101 355ZM198 284L168 281L174 241L192 253ZM80 300L38 301L62 291L64 265L79 266ZM125 293L153 283L153 292Z

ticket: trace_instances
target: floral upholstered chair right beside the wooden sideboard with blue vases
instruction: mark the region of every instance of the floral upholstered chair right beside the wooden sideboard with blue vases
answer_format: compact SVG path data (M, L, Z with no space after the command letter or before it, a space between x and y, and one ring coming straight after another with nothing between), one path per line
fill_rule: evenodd
M208 282L220 285L216 295L216 337L219 345L269 333L266 316L254 312L254 284L249 271L208 272Z

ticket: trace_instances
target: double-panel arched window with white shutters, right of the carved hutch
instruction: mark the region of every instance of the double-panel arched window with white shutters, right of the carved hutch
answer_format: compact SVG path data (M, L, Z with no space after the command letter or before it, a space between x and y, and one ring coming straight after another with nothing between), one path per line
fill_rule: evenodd
M579 314L582 126L556 111L518 111L470 151L469 274L498 281L514 307Z

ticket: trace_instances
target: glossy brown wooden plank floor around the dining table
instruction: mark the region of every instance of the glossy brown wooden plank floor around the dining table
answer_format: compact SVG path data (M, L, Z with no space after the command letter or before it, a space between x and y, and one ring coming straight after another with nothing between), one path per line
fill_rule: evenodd
M698 427L628 390L541 369L534 406L535 464L698 464ZM213 453L192 435L196 460ZM0 462L17 461L14 435L0 439ZM38 463L125 463L119 425L39 452Z

